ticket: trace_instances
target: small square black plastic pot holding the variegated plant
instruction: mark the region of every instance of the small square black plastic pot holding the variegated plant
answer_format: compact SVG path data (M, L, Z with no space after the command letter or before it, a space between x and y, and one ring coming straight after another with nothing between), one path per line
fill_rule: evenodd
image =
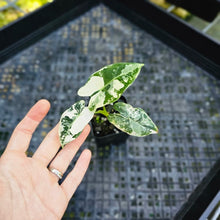
M121 96L120 99L117 102L124 102L127 103L126 98L124 96ZM108 107L106 107L108 108ZM92 124L92 132L96 140L96 144L98 147L104 147L107 145L111 144L121 144L127 140L129 135L127 133L124 133L120 130L118 130L115 126L113 126L110 123L107 123L109 126L114 127L114 133L112 133L113 129L110 129L110 133L106 134L104 136L100 136L96 134L96 123L95 123L95 118L92 119L91 121Z

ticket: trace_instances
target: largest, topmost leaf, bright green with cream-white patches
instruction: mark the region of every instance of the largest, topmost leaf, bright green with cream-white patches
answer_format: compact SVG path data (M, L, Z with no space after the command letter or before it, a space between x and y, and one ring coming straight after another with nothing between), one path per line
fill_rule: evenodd
M117 101L137 78L143 64L115 63L103 67L91 75L79 89L79 96L91 96L89 109L95 109Z

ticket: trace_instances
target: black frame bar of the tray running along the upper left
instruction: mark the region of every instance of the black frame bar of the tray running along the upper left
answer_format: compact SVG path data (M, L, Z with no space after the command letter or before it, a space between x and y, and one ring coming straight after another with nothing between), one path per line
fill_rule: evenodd
M0 31L0 63L96 4L96 0L55 0L6 26Z

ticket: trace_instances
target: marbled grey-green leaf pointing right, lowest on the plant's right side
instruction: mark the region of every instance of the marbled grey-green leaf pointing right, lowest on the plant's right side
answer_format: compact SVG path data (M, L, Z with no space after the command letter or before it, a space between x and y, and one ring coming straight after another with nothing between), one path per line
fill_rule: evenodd
M118 113L109 114L107 118L118 129L138 137L158 133L157 126L143 109L122 102L115 103L113 108Z

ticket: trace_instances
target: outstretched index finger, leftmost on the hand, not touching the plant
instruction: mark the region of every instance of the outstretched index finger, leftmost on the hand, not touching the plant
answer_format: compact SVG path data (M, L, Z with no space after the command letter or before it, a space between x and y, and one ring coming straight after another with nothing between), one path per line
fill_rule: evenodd
M50 103L42 99L25 115L12 133L6 150L25 152L28 149L32 134L50 109Z

